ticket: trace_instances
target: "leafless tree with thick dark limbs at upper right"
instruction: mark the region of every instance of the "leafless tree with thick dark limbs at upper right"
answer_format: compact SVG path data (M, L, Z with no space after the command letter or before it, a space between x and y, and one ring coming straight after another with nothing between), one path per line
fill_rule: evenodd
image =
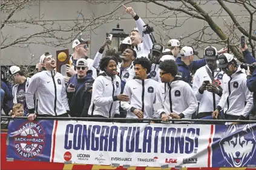
M252 51L252 55L255 57L255 42L256 42L256 31L255 30L255 12L256 12L256 1L252 0L180 0L179 2L176 0L166 0L166 1L155 1L155 0L147 0L143 1L145 3L154 3L157 7L163 8L162 11L158 11L156 14L156 19L153 19L151 22L154 25L159 26L161 29L157 30L156 33L159 34L160 40L165 41L166 39L171 39L169 37L170 31L177 27L183 27L185 22L188 22L189 19L199 19L203 20L207 23L202 29L197 30L195 32L186 34L186 36L182 36L180 40L185 40L186 38L192 39L189 42L191 45L195 45L195 48L200 48L205 46L206 44L220 44L225 46L229 40L229 48L232 53L237 56L238 60L243 61L243 56L238 49L240 45L240 37L243 34L248 39L248 47ZM177 5L180 3L180 5ZM209 8L211 5L218 5L219 10L209 12ZM237 19L235 13L232 13L229 7L234 7L235 5L240 6L240 11L247 11L248 14L241 18ZM208 8L206 10L206 8ZM215 8L214 8L215 9ZM149 12L150 9L148 9ZM213 10L213 9L212 9ZM222 17L222 13L226 12L228 17L231 19L231 22L227 22L226 17ZM153 12L151 12L153 13ZM182 22L178 22L179 14L186 14L188 17ZM158 17L165 14L165 18L157 19ZM176 23L172 25L166 24L165 20L169 17L176 16ZM220 27L220 25L215 22L212 16L217 16L217 18L223 18L223 23L226 29ZM192 25L191 25L192 27Z

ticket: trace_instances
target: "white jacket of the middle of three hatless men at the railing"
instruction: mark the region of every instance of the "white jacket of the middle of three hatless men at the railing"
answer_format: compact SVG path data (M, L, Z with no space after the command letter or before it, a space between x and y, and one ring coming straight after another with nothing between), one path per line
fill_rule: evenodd
M127 111L126 118L138 118L134 115L134 109L140 109L143 112L143 118L159 118L157 112L154 113L153 104L156 102L156 90L159 86L157 81L152 79L130 80L125 84L123 93L128 95L130 101L121 101L121 107Z

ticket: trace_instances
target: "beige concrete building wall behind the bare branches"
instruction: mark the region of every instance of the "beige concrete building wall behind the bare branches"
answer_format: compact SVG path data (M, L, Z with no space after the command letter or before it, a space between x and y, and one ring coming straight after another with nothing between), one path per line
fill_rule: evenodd
M99 1L95 1L99 2ZM169 4L169 2L162 2L163 4L169 5L171 7L179 7L181 2L171 2L172 4ZM221 9L220 5L216 4L216 1L209 1L206 4L204 4L206 1L201 1L202 7L205 11L209 13L209 15L212 15L214 12L219 11ZM35 20L40 21L47 21L49 23L54 22L54 25L61 25L61 27L65 27L67 25L73 25L73 20L78 16L77 11L81 11L84 16L90 17L91 14L94 14L95 16L99 16L100 14L106 14L109 13L111 10L113 10L116 5L119 3L112 3L112 4L91 4L87 1L38 1L37 4L33 7L27 8L26 10L22 10L19 13L16 13L12 19L21 20L25 17L33 16L35 17ZM245 29L249 28L249 19L248 15L249 13L245 11L245 9L241 10L241 7L235 4L226 4L229 9L235 14L235 17L237 17L240 22L245 22L243 27ZM173 38L179 38L180 36L185 37L189 35L189 33L192 33L194 31L202 29L206 24L203 20L194 19L194 18L188 18L188 15L185 13L174 13L174 11L169 11L168 13L165 13L165 9L162 7L159 7L153 3L143 3L143 2L132 2L130 4L126 4L126 7L133 7L137 14L139 14L140 17L145 21L145 23L148 23L149 20L153 21L156 26L154 26L154 30L156 33L163 34L162 42L166 43L168 42L169 37ZM119 10L117 10L116 16L119 16L123 13L123 8L121 7ZM159 15L160 14L160 15ZM6 14L1 14L1 19L5 19ZM159 20L165 19L165 25L172 25L172 26L179 26L180 24L182 27L173 28L169 31L163 31L159 24L161 25ZM227 30L225 23L232 23L231 19L228 17L228 14L224 10L219 11L218 14L213 14L212 19L218 24L220 28L223 30ZM177 22L177 24L176 24ZM255 20L254 20L255 23ZM105 34L111 31L112 28L115 28L116 25L119 24L120 28L123 28L125 33L129 33L129 31L136 27L136 24L134 22L134 19L131 18L130 15L125 14L122 17L120 17L119 20L113 20L113 22L104 24L100 26L99 28L96 28L93 31L85 31L82 34L82 37L84 39L90 39L91 45L90 45L90 54L89 56L91 58L94 57L97 50L99 49L100 45L103 43L103 40L105 39ZM158 24L158 25L157 25ZM153 26L153 24L151 24ZM41 27L38 27L36 25L22 25L22 29L17 27L10 27L6 26L1 31L4 35L11 35L12 39L15 39L16 37L20 37L22 35L30 34L30 33L38 33L39 31L42 31ZM256 30L256 27L254 27L254 30ZM237 31L235 31L237 32ZM206 33L213 34L214 32L211 29L206 30ZM67 34L61 33L63 36L69 36ZM68 33L70 34L70 33ZM155 34L156 39L160 40L160 36ZM192 36L187 37L185 40L183 40L183 43L186 44L187 42L191 43L191 40L193 38L197 37L198 34L194 34ZM35 42L34 39L31 40L32 42ZM28 43L25 43L22 45L24 48L19 47L8 47L5 49L2 49L1 54L1 62L2 65L35 65L39 61L39 57L41 54L45 51L49 51L52 54L56 54L56 50L59 49L70 49L71 52L71 43L64 47L50 47L45 45L37 45L37 44L30 44L27 46ZM207 46L206 44L205 46ZM221 46L217 46L220 48ZM200 55L202 55L202 50L200 49Z

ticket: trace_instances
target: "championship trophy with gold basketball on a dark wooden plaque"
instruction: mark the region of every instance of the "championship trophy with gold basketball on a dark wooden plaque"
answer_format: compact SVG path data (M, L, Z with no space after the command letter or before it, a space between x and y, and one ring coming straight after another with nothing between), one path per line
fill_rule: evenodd
M68 65L71 66L70 53L68 49L56 51L56 56L57 56L56 71L61 73L64 76L71 77L70 74L67 74L66 72Z

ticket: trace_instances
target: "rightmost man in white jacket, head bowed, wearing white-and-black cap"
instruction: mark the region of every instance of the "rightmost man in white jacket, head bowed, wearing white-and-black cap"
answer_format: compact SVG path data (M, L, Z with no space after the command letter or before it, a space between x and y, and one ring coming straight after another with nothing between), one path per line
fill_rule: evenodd
M218 102L217 109L212 112L213 119L228 120L249 119L253 107L252 92L246 86L246 74L238 67L234 56L224 53L218 57L219 67L223 75L223 95ZM246 103L246 105L245 105ZM220 115L223 110L224 115Z

